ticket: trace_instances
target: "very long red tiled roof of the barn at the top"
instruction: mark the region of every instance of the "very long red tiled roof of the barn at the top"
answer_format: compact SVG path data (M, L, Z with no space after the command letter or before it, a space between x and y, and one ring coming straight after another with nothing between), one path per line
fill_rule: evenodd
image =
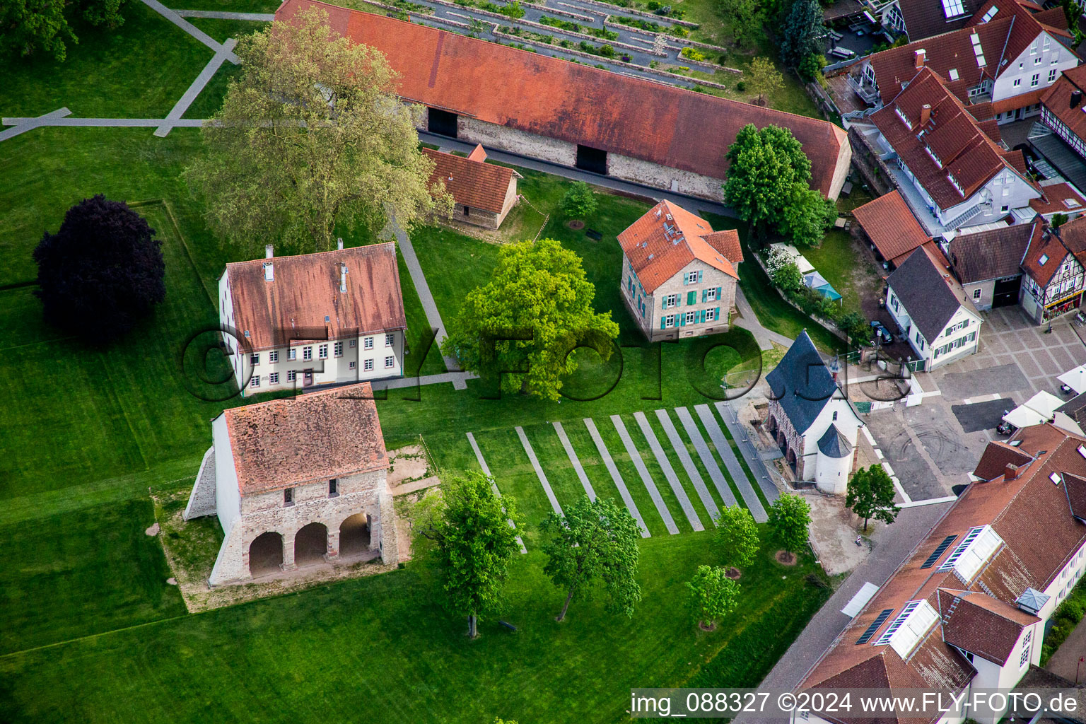
M346 10L287 0L277 20L310 7L336 31L380 50L402 98L470 118L582 143L662 166L724 178L725 154L747 124L790 128L811 161L811 187L831 191L848 162L844 130L773 111L539 53Z

